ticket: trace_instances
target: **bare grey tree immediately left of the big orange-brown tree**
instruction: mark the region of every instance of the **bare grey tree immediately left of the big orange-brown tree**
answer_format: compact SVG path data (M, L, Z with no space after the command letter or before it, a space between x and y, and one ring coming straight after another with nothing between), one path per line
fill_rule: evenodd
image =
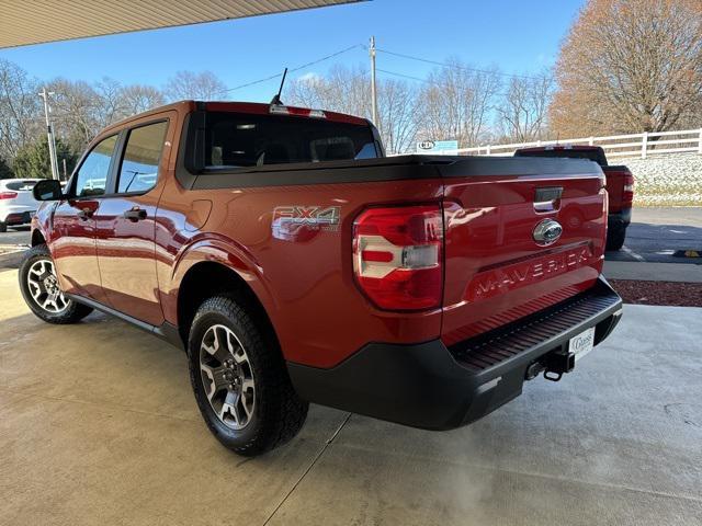
M550 72L536 77L512 77L496 107L498 129L509 141L541 139L547 133L548 105L554 80Z

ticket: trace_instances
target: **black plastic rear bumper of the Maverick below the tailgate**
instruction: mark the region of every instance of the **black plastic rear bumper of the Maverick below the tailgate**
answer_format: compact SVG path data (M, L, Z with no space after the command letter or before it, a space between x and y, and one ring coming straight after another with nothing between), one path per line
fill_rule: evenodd
M619 322L622 300L603 279L586 293L446 347L440 340L372 343L331 369L287 364L301 398L428 430L468 424L518 397L526 368L567 350L596 327L595 344Z

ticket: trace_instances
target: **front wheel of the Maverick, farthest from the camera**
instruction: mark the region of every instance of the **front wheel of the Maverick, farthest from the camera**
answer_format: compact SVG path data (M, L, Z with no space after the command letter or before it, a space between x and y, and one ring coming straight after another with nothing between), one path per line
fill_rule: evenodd
M42 320L59 324L76 323L92 312L90 307L64 295L46 244L38 244L25 252L19 275L24 301Z

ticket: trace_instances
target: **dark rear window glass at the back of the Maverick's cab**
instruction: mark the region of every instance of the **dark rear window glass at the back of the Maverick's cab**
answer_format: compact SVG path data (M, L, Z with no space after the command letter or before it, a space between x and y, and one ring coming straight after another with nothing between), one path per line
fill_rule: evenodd
M208 169L378 157L370 126L226 112L208 112L206 118Z

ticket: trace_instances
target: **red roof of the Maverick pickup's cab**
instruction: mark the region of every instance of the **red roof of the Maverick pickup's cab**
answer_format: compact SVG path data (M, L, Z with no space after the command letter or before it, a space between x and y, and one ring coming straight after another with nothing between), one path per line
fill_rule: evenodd
M276 111L271 111L272 107L276 107ZM312 110L308 107L298 107L298 106L288 106L288 105L275 105L264 104L260 102L229 102L229 101L178 101L171 104L166 104L163 106L154 107L147 112L138 113L136 115L132 115L131 117L118 121L114 124L111 124L105 128L105 130L122 127L125 124L128 124L132 121L137 121L139 118L154 115L157 113L162 113L168 110L180 110L182 111L194 111L194 110L205 110L208 112L234 112L234 113L244 113L244 114L252 114L252 115L291 115L299 118L320 118L325 121L331 121L336 123L347 123L347 124L355 124L359 126L369 126L371 123L366 118L356 117L354 115L347 115L343 113L330 112L327 110ZM101 134L102 135L102 134Z

